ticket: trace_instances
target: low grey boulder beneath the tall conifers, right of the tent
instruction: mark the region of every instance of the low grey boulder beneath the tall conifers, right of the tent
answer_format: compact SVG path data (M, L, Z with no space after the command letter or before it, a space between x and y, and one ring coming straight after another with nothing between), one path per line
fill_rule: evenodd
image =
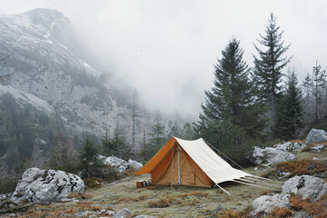
M253 163L279 163L294 160L295 155L273 147L260 148L254 146Z

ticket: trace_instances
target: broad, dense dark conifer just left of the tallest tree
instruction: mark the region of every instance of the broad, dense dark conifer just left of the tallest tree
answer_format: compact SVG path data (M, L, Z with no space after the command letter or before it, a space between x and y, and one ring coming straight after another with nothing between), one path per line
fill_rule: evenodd
M215 64L213 88L205 91L203 115L209 121L231 122L254 135L262 130L261 115L253 104L249 68L243 61L240 41L233 37Z

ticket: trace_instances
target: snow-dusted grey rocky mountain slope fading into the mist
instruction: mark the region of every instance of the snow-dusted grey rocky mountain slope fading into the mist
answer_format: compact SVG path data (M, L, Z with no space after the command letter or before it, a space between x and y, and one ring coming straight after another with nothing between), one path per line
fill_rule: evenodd
M0 74L12 74L0 84L24 105L56 114L64 124L92 133L115 127L124 119L126 96L103 83L104 71L83 43L74 25L54 9L35 9L20 15L0 15ZM119 101L117 101L119 100Z

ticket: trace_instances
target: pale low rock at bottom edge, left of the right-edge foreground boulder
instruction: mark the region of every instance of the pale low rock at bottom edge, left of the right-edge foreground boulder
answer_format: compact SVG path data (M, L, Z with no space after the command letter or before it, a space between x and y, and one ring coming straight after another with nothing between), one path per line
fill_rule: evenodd
M255 215L256 213L264 212L270 213L272 209L276 206L281 208L290 207L290 201L287 194L276 193L274 195L263 195L258 197L253 201L253 210L250 215Z

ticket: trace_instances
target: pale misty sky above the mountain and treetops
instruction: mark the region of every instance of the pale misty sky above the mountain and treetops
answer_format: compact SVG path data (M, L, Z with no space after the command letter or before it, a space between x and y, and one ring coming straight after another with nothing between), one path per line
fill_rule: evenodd
M253 66L253 43L271 12L291 44L302 80L327 68L327 1L0 0L0 13L55 8L84 33L109 72L136 87L148 106L197 118L213 64L234 36Z

